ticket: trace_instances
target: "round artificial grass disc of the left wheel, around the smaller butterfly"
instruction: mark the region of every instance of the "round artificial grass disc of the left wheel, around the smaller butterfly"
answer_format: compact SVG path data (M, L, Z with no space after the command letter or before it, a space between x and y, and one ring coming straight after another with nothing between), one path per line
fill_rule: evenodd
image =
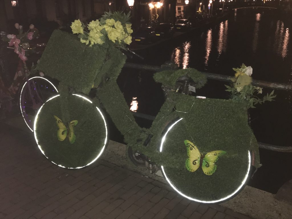
M50 161L66 168L82 167L93 161L104 146L104 121L95 105L73 95L68 96L69 120L66 121L61 113L62 101L59 96L44 104L37 120L36 136ZM66 127L67 122L78 120L74 127L76 140L73 144L69 143L68 137L64 141L58 140L58 126L53 115L59 117Z

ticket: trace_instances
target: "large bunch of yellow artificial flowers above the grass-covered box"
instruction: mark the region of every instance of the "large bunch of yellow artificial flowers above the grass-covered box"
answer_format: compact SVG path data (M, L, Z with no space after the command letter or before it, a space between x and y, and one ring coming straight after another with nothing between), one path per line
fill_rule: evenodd
M132 42L131 29L132 24L129 22L130 12L105 12L102 18L92 20L86 26L79 19L72 22L70 26L73 34L78 34L81 43L93 46L104 43L113 44L114 46L125 48Z

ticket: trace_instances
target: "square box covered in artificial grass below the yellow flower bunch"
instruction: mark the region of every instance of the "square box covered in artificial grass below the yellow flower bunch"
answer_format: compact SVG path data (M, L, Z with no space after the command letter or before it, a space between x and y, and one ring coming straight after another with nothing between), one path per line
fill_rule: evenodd
M37 68L51 78L73 87L76 92L88 94L94 82L100 82L107 57L105 46L89 47L80 39L61 30L51 35ZM117 52L117 50L116 50ZM115 62L119 57L115 57Z

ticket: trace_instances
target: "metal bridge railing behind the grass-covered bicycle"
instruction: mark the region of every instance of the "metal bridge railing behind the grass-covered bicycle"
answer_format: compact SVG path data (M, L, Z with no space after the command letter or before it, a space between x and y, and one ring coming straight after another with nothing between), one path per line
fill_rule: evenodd
M137 64L132 62L126 62L124 65L126 68L132 68L132 69L140 69L140 70L147 70L151 72L159 72L162 70L169 70L169 69L178 69L178 66L171 61L166 62L165 64L161 66L157 65L143 65L143 64ZM202 72L206 75L207 79L217 80L217 81L226 81L226 82L232 82L231 76L228 75L222 75L222 74L214 74L214 73L207 73ZM252 85L259 86L259 87L266 87L276 90L286 90L286 91L292 91L292 85L291 84L285 84L285 83L274 83L274 82L267 82L267 81L260 81L260 80L253 80ZM146 115L142 113L135 113L132 112L136 117L154 120L155 117L151 115ZM270 150L270 151L277 151L277 152L292 152L292 146L284 147L284 146L277 146L277 145L270 145L262 142L258 142L258 145L262 149Z

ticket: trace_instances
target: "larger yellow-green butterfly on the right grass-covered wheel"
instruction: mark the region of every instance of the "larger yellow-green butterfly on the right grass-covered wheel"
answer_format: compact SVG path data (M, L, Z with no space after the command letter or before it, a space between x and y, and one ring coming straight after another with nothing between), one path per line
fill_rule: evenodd
M226 154L226 151L211 151L205 156L201 154L194 143L189 140L185 140L185 146L187 147L187 156L189 157L185 161L185 166L188 171L194 172L200 166L206 175L212 175L215 173L217 165L215 162L220 156Z

